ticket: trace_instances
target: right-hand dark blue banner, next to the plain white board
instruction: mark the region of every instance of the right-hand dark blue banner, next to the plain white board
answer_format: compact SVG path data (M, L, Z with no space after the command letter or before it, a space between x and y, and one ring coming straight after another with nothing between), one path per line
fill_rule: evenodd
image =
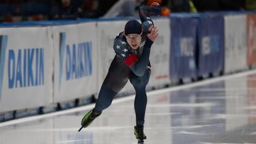
M222 14L199 18L199 76L221 72L224 67L224 20Z

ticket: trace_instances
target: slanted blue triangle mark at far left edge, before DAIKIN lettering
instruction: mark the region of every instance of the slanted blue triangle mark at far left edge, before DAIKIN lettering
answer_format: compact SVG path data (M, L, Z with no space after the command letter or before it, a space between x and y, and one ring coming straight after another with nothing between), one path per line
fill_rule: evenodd
M8 42L8 35L0 35L0 100L3 89L3 72L5 68L5 51Z

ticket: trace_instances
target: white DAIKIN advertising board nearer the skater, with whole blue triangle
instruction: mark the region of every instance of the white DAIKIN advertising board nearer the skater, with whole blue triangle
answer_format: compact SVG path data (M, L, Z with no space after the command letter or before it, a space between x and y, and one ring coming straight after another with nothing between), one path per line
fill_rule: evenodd
M86 98L97 90L96 23L53 27L54 102Z

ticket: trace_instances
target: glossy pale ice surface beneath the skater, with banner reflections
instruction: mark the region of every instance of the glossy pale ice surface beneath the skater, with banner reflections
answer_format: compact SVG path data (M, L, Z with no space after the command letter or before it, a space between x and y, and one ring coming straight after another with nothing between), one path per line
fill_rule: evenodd
M256 71L149 91L147 144L256 143ZM117 98L77 132L94 104L0 123L0 143L137 143L134 96Z

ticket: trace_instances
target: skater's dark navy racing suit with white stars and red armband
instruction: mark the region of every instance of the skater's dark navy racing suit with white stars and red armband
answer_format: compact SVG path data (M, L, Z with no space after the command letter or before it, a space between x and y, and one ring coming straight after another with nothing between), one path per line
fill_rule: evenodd
M115 57L109 67L109 72L102 83L98 100L94 111L101 113L111 105L113 98L126 85L128 80L132 83L136 96L134 100L134 109L137 118L137 126L143 126L145 109L147 105L147 95L145 87L150 79L150 49L153 44L152 40L147 38L147 29L154 25L153 20L149 17L152 11L159 14L157 8L142 6L139 8L141 26L144 31L141 35L141 44L139 48L132 49L124 31L119 33L114 40L113 49ZM155 15L156 15L155 14Z

